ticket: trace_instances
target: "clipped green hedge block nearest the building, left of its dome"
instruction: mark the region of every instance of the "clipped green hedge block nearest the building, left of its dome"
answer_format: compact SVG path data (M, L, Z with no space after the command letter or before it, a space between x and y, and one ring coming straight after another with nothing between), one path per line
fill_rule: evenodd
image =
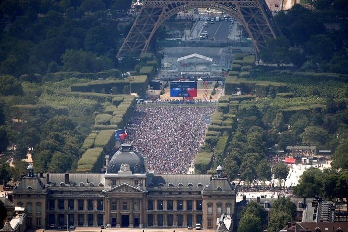
M77 162L77 173L99 173L104 164L103 148L88 149ZM95 183L96 184L96 183ZM97 183L98 184L98 183Z

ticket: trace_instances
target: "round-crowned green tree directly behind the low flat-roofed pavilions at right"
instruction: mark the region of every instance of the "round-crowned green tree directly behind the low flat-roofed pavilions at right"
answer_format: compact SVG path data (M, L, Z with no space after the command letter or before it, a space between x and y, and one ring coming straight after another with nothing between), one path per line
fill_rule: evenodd
M329 138L328 132L319 126L307 126L305 131L300 134L302 142L307 145L324 145Z

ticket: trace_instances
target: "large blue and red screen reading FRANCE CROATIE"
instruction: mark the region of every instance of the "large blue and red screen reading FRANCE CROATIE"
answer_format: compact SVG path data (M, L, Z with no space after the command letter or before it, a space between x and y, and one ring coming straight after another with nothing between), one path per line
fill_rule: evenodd
M170 97L197 97L196 81L170 82Z

